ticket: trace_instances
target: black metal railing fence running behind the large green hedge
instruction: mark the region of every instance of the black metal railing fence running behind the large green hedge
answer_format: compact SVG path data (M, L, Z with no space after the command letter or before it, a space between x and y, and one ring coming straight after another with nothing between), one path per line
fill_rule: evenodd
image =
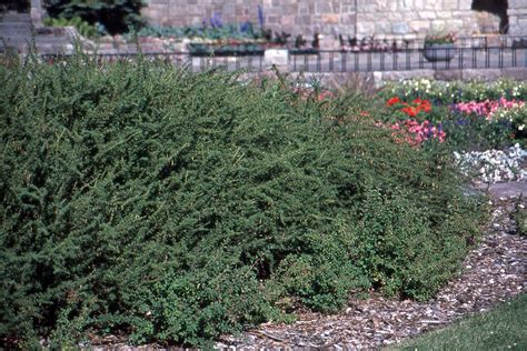
M122 60L138 53L98 54L101 62ZM193 57L188 52L146 52L149 59L172 64L186 64L191 70L225 67L228 70L262 71L274 62L264 56ZM47 60L60 56L43 56ZM527 69L527 37L501 36L458 39L456 46L422 47L407 42L395 47L349 47L341 50L317 50L309 53L289 53L287 67L290 71L304 72L368 72L401 71L417 69L466 70L466 69Z

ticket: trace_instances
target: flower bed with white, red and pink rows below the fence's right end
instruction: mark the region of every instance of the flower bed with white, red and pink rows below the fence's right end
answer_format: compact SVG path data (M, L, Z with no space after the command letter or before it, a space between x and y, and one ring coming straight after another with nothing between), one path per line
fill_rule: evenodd
M501 80L438 82L427 79L388 84L380 97L389 104L429 101L428 119L441 123L449 143L460 150L501 149L526 144L527 86ZM400 111L419 117L422 107L400 106Z

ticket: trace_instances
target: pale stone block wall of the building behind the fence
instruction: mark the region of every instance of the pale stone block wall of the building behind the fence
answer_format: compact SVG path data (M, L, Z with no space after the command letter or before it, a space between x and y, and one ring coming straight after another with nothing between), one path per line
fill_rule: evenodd
M148 0L142 14L157 26L197 24L215 12L225 22L258 23L261 6L266 27L292 34L414 39L441 30L496 33L499 17L473 10L475 1L498 0ZM507 13L509 33L527 34L527 0L508 0Z

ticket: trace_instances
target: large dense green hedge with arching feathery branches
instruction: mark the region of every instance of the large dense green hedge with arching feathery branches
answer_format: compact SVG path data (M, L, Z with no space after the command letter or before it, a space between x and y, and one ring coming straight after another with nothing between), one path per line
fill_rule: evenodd
M203 345L350 289L427 299L478 231L443 147L357 99L82 54L0 78L3 342Z

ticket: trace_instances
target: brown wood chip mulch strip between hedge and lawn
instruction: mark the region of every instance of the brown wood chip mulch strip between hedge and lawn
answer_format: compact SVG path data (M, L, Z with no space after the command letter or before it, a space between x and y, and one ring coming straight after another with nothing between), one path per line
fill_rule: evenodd
M527 238L510 218L521 198L495 198L491 224L463 263L461 273L426 303L371 293L350 299L339 314L301 313L292 324L266 323L240 338L222 337L217 348L378 349L483 312L527 288Z

